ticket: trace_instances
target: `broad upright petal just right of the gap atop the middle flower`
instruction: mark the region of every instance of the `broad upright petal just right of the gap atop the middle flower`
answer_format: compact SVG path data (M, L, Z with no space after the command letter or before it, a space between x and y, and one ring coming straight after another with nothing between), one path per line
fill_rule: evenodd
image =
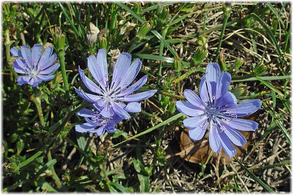
M112 77L112 83L111 83L111 88L113 89L118 86L120 83L121 79L125 77L125 74L129 68L131 62L131 55L127 53L122 53L115 64L115 68L113 71L113 77Z

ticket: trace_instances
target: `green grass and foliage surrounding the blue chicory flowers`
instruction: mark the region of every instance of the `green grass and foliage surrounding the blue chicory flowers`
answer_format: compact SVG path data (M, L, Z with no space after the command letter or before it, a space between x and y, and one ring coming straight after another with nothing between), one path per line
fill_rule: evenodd
M282 191L282 183L267 182L263 173L273 170L283 176L285 187L290 175L291 5L230 5L2 3L2 192ZM93 44L86 34L90 23L100 30ZM10 49L37 43L54 46L61 69L38 88L20 86ZM142 112L132 114L105 137L76 133L74 128L84 122L76 112L90 108L73 89L85 89L78 66L93 79L86 69L87 57L101 48L141 59L138 78L148 78L138 92L159 92L141 101ZM238 100L262 100L255 116L259 129L247 153L235 159L238 164L219 166L211 161L215 166L209 166L209 160L188 164L176 155L184 116L178 114L176 101L185 99L184 89L198 94L206 64L217 56L215 62L231 74L229 90ZM269 143L276 139L281 143L275 162L263 162L274 154ZM156 179L164 183L165 191ZM250 185L244 185L243 179Z

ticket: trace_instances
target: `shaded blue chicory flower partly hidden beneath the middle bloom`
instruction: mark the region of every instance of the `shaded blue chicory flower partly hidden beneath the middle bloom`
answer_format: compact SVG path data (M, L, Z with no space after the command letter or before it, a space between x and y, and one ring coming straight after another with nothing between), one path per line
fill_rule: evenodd
M98 136L102 136L105 131L108 133L114 133L116 131L115 125L123 119L113 111L110 111L109 117L104 117L101 115L101 108L95 104L92 104L91 106L95 111L84 108L76 113L77 115L84 117L86 123L76 125L75 130L80 133L96 133Z

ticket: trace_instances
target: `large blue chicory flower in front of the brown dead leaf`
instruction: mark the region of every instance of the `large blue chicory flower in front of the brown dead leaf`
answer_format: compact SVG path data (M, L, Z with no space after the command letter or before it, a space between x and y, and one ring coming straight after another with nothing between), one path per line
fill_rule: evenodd
M177 101L177 109L190 116L183 121L192 140L200 140L209 126L209 145L214 153L224 149L229 157L236 155L236 146L246 143L237 130L254 131L258 123L237 118L248 116L261 106L259 99L237 104L235 96L228 91L231 75L220 71L217 63L209 63L199 85L200 98L191 90L184 91L187 101Z

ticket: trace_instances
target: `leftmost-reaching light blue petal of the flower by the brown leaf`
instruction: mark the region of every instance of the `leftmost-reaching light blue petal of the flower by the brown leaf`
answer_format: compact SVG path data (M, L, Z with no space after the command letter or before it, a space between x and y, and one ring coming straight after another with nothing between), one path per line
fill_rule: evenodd
M181 113L190 117L197 117L205 113L203 109L195 107L187 101L176 101L176 108Z

